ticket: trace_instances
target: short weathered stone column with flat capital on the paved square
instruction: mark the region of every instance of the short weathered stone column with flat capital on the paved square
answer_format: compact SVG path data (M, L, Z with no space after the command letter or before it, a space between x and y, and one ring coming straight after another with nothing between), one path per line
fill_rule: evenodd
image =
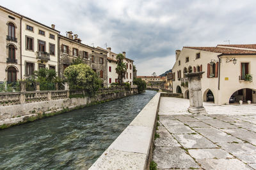
M189 108L190 113L206 113L203 106L201 75L204 72L186 73L188 77Z

